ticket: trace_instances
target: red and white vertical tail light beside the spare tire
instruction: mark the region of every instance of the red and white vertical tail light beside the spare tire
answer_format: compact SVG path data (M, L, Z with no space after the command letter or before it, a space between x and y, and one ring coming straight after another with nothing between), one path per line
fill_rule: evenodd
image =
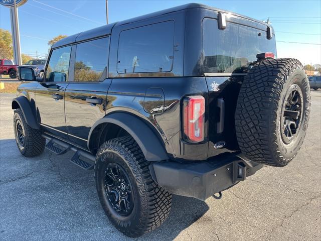
M183 106L185 139L192 143L202 142L204 140L204 97L200 95L185 97Z

